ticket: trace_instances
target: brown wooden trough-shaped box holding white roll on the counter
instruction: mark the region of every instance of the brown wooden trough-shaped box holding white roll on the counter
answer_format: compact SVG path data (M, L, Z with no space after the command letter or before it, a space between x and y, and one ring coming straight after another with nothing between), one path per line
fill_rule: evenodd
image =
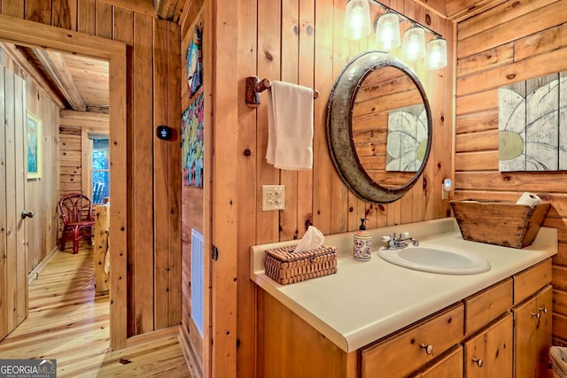
M532 244L549 211L549 203L535 206L504 201L451 201L462 238L504 247Z

